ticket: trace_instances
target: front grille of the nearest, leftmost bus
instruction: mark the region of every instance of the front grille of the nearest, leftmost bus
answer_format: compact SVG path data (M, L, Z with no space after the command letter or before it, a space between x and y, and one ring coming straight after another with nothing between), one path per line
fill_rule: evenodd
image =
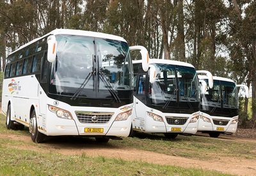
M79 122L83 124L107 124L113 114L109 112L76 111Z

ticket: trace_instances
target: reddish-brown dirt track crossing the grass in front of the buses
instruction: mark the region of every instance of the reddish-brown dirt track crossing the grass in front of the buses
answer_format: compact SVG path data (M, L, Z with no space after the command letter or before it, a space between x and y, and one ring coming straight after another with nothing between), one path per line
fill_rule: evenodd
M0 111L1 112L1 111ZM197 133L200 136L207 134ZM4 134L1 138L10 138L12 140L23 140L31 141L29 136L22 136L20 138L17 134ZM221 140L236 140L241 143L250 141L256 143L256 130L251 129L238 129L236 134L233 135L220 135ZM43 149L40 147L42 152L60 153L65 155L81 155L86 156L104 156L104 157L115 157L118 159L124 159L127 161L145 161L154 164L170 164L173 166L181 166L184 168L202 168L203 170L216 170L223 173L229 173L234 175L256 175L256 161L252 159L241 159L237 157L216 157L216 159L210 161L200 161L199 159L188 159L179 156L169 156L165 154L159 154L156 152L148 152L145 150L138 150L131 147L116 147L109 145L97 145L97 143L88 143L66 140L50 140L46 143L40 143L43 145ZM20 148L26 150L38 151L38 147L31 147L31 145L22 145ZM255 148L256 153L256 148Z

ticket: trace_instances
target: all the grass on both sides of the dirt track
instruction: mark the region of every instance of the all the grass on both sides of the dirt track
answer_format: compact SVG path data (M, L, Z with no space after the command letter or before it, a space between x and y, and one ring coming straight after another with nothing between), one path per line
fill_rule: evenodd
M3 137L8 134L15 136L16 140ZM51 137L40 144L22 138L29 138L28 128L23 131L7 130L5 118L0 115L0 175L227 175L200 168L126 161L121 157L91 157L86 156L86 153L72 155L54 152L65 147L67 150L93 150L96 146L93 138ZM178 136L175 140L167 140L161 134L139 133L135 138L110 140L107 144L99 143L97 148L136 148L205 161L209 160L209 157L219 155L256 159L255 153L250 151L256 148L254 143L245 142L241 145L232 140L227 142L202 136Z

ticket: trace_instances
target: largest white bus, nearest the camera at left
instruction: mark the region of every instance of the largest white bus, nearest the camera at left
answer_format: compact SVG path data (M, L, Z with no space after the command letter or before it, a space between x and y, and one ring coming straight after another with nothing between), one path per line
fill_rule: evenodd
M127 137L131 129L133 71L130 47L120 36L55 29L8 56L2 111L8 129L29 127L44 136Z

